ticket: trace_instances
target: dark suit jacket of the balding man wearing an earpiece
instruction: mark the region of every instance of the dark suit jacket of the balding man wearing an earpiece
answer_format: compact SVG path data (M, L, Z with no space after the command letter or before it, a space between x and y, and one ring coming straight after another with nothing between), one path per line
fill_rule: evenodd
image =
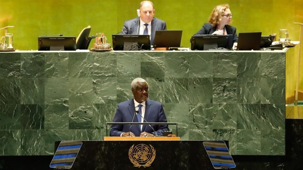
M124 27L120 34L139 34L140 33L140 18L131 19L124 22ZM128 28L132 28L128 31ZM151 21L151 45L154 45L156 30L166 30L166 23L158 18L153 18Z

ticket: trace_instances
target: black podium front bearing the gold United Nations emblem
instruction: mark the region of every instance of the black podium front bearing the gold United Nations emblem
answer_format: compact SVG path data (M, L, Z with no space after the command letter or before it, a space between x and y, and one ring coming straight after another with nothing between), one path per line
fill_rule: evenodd
M117 138L123 137L108 138L107 141L82 141L71 170L214 169L203 140L122 141ZM55 150L59 143L55 142Z

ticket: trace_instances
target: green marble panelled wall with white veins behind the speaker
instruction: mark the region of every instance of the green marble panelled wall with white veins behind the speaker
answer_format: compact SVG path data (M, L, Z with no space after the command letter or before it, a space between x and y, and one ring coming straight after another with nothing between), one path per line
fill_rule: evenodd
M135 77L179 123L181 140L285 155L285 52L275 51L2 52L0 155L52 155L58 140L103 140Z

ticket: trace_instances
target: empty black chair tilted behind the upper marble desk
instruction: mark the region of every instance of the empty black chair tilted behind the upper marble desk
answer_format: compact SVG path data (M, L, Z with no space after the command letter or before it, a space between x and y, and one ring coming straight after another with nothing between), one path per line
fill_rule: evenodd
M91 32L91 26L87 26L86 28L83 28L83 30L80 32L76 39L76 48L79 50L87 50L89 43L95 36L90 36L89 33Z

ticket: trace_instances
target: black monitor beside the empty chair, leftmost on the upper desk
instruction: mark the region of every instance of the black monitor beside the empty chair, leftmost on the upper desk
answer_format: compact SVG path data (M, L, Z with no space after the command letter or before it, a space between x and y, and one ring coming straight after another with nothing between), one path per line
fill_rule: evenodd
M75 51L76 37L38 37L39 51Z

